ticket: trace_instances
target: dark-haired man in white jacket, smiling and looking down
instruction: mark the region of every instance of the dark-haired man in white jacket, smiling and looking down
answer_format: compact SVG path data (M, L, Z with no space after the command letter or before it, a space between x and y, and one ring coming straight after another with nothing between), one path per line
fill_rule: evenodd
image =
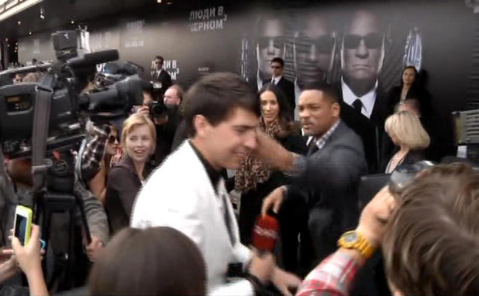
M221 174L238 169L256 147L255 96L239 76L215 73L192 86L184 102L190 138L157 169L139 193L132 227L169 226L203 253L209 295L255 295L272 282L284 295L299 280L259 257L239 240L234 210ZM231 264L254 276L228 281Z

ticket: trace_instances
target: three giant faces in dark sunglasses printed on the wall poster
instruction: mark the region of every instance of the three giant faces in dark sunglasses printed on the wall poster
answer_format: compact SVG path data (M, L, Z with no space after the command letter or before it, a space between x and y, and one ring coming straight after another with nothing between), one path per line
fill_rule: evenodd
M241 76L259 89L271 78L269 61L281 57L296 105L305 85L328 82L350 105L367 95L361 111L374 117L375 105L385 103L387 90L399 83L401 69L412 65L420 71L424 54L421 28L386 17L386 9L344 13L315 6L271 13L262 8L250 33L242 36Z

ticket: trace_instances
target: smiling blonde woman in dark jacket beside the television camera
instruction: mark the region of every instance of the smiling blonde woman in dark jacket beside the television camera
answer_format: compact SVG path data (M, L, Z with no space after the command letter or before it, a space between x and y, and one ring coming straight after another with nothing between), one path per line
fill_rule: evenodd
M145 182L145 164L155 151L155 125L148 115L130 115L123 123L121 142L121 160L110 170L106 186L105 210L112 235L128 226L136 194Z

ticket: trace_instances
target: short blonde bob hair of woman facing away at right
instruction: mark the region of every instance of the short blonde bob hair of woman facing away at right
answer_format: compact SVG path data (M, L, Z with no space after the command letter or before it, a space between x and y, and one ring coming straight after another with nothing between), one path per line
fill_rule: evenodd
M431 139L419 118L410 111L399 111L386 119L384 128L389 136L394 136L401 145L409 149L425 149Z

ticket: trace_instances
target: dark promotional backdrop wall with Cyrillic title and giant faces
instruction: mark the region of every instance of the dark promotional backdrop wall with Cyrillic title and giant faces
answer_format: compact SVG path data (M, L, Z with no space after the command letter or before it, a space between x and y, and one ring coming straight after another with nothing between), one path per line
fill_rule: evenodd
M214 71L237 72L256 86L259 78L269 77L267 60L282 56L285 76L299 91L309 81L339 84L351 55L351 44L343 43L343 37L354 33L351 27L369 22L380 32L379 45L374 35L363 39L372 47L367 67L378 88L398 85L405 65L426 73L440 154L454 153L450 113L467 102L476 31L473 9L459 0L360 2L274 6L216 1L178 5L161 15L143 10L89 20L89 43L92 51L119 49L120 58L142 65L146 77L154 56L161 54L166 70L184 87ZM350 25L352 20L357 22ZM50 33L19 38L20 62L53 60Z

